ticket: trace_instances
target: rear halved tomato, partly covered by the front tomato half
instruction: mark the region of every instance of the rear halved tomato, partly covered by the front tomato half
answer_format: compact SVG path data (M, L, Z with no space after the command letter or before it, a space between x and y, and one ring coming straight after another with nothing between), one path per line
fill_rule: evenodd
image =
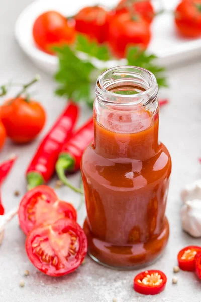
M61 218L76 221L77 213L70 203L59 200L53 189L42 185L24 195L18 218L21 229L28 234L35 226L52 224Z

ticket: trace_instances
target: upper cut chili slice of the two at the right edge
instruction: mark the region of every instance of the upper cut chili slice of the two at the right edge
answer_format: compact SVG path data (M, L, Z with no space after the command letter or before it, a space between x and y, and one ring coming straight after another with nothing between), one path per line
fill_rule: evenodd
M180 269L185 271L195 270L195 256L197 252L201 252L201 247L187 246L182 249L177 256Z

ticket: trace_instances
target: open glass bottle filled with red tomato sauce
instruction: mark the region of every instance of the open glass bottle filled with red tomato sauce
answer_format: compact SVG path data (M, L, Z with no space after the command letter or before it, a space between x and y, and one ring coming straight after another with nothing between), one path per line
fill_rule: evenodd
M98 263L133 269L164 250L171 158L158 140L158 85L133 66L103 72L96 84L94 142L81 172L88 253Z

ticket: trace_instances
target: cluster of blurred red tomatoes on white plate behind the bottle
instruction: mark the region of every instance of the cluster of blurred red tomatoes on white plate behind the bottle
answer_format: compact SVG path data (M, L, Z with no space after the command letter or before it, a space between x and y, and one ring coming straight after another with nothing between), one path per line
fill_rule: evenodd
M129 45L148 46L154 18L150 1L134 1L131 7L129 3L121 0L111 11L100 6L84 7L70 20L58 12L45 12L34 22L34 41L41 50L53 54L54 45L72 44L76 33L81 33L107 43L114 56L125 57Z

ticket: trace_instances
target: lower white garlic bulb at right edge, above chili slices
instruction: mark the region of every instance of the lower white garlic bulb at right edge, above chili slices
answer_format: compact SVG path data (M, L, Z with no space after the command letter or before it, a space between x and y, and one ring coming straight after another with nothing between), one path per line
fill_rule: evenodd
M201 237L201 200L188 200L181 208L183 229L193 237Z

